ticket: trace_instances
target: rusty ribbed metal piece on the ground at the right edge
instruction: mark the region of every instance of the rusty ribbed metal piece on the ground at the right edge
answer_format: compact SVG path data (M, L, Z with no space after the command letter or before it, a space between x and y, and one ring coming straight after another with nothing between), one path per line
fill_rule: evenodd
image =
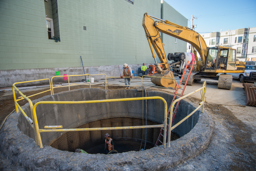
M245 90L245 102L248 106L256 106L256 88L253 84L243 83Z

